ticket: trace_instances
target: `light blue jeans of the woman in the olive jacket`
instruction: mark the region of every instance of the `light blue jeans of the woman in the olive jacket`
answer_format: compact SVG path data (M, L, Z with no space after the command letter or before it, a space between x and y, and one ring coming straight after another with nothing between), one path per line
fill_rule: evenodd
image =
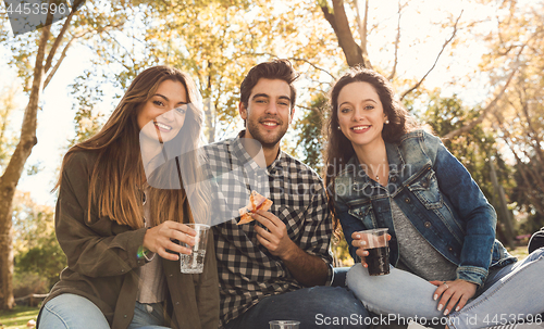
M162 304L136 302L128 329L159 329L164 321ZM84 296L64 293L46 303L38 319L40 329L110 329L100 308Z

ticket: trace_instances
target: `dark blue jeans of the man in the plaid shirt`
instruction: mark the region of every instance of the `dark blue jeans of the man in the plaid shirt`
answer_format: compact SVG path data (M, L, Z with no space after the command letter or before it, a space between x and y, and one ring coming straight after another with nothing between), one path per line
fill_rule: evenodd
M265 329L272 320L297 320L300 329L364 329L368 316L361 302L348 290L320 286L264 298L225 328Z

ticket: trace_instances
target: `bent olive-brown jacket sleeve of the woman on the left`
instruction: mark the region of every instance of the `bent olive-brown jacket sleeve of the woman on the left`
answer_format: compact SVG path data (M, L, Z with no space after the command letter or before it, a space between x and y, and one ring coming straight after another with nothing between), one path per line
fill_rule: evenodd
M146 229L133 230L109 217L99 217L91 208L87 212L90 154L77 152L62 173L55 211L55 232L66 254L69 267L89 277L123 275L145 262L137 251L144 242Z

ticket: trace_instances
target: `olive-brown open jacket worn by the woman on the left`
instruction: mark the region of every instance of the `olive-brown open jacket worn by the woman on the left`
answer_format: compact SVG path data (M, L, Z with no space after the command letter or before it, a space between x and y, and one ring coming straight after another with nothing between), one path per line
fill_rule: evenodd
M82 295L102 311L111 328L125 329L133 318L138 289L139 277L134 269L146 264L137 256L146 228L135 230L109 217L99 217L95 207L88 220L87 197L95 161L94 153L77 152L62 173L55 232L67 267L44 305L62 293ZM162 265L170 296L165 307L169 325L180 329L217 329L219 281L211 231L202 274L182 274L180 262L162 258Z

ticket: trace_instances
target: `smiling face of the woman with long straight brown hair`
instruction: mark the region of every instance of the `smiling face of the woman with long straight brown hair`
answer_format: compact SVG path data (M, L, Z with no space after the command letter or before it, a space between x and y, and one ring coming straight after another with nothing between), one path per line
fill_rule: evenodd
M172 140L185 122L187 92L180 81L164 80L138 111L141 132L160 142Z

